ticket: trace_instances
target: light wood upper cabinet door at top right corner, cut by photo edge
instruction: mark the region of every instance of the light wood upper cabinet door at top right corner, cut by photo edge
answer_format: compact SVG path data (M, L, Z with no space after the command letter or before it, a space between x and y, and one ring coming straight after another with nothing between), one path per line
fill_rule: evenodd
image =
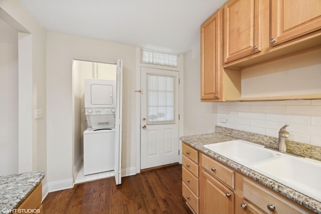
M320 0L273 0L271 1L272 45L321 29Z

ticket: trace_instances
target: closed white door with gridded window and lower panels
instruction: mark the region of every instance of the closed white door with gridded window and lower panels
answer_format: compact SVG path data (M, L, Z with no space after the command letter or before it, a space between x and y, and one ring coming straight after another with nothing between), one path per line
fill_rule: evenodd
M179 161L179 72L141 67L140 169Z

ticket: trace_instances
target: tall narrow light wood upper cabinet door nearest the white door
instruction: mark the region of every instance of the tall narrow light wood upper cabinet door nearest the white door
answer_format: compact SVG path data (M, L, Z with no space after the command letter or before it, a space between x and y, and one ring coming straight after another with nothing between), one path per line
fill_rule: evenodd
M213 100L220 92L221 12L216 12L201 26L201 99Z

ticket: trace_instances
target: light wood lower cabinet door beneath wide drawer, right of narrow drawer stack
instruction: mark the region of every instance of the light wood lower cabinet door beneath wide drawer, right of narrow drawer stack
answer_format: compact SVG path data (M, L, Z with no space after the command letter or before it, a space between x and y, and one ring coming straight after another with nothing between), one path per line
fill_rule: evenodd
M205 170L201 173L200 187L200 213L234 213L234 192Z

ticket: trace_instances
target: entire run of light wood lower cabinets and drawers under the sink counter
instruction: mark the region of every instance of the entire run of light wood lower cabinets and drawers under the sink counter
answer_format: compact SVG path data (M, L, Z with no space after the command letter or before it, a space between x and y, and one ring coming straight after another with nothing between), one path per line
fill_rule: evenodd
M193 213L315 213L183 144L182 194Z

